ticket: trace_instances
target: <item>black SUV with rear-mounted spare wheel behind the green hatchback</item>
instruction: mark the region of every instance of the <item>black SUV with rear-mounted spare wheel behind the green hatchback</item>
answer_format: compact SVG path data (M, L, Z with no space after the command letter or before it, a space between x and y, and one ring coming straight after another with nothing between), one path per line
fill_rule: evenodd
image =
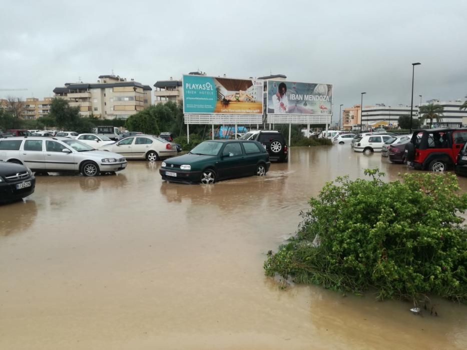
M284 136L276 130L250 130L241 139L260 142L269 153L269 158L276 161L287 161L288 148Z

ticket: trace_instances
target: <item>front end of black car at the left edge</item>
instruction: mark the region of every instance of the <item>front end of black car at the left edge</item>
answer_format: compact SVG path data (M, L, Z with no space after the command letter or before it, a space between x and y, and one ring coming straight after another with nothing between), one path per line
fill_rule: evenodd
M36 178L26 166L0 160L0 202L19 200L34 192Z

